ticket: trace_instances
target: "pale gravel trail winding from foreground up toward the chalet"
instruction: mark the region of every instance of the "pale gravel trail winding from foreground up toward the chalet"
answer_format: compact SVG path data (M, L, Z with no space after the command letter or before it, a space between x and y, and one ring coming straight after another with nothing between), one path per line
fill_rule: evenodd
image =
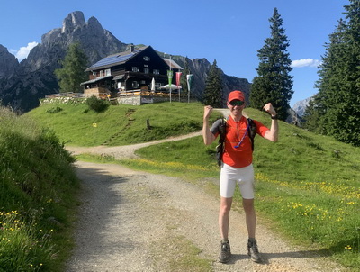
M178 139L184 137L166 141ZM133 151L139 147L158 142L162 141L68 150L124 158L134 157ZM184 254L179 249L183 241L202 249L199 257L211 260L211 271L342 271L317 251L286 245L261 224L257 241L265 262L253 263L247 257L245 218L236 211L230 213L233 257L229 264L220 264L219 199L206 194L202 186L119 165L79 161L76 170L83 181L82 204L68 272L174 271L171 262Z

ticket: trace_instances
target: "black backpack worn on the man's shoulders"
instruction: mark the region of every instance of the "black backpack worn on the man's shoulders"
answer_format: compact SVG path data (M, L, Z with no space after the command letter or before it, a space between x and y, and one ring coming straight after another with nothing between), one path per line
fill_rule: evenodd
M227 120L220 119L219 124L219 144L216 146L216 159L218 161L218 165L221 166L222 161L222 154L224 153L224 142L225 142L225 135L226 135L226 126ZM251 141L251 150L254 151L254 138L257 135L257 124L251 118L247 118L248 126L247 126L247 133L248 137Z

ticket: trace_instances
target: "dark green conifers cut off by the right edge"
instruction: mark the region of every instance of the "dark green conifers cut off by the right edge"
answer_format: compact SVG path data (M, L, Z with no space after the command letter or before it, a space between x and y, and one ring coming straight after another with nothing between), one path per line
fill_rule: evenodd
M345 9L322 58L315 116L324 134L360 146L360 0Z

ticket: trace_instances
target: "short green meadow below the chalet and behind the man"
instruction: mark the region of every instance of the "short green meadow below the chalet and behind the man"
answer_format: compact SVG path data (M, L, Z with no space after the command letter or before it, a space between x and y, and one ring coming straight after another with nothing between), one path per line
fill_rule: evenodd
M162 103L110 106L94 113L85 104L42 105L26 117L55 131L66 145L111 146L164 139L199 131L202 104ZM247 115L269 125L266 113ZM212 121L220 117L214 113ZM356 271L360 267L360 149L279 122L276 143L256 137L256 208L259 222L309 254L330 257ZM216 143L202 137L169 141L138 150L140 159L115 161L82 155L78 159L121 163L130 168L183 177L218 194ZM234 209L241 209L237 192Z

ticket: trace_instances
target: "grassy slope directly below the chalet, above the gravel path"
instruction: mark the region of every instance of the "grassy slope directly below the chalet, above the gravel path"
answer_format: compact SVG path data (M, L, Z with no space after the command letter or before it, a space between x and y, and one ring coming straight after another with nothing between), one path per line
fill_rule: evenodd
M78 146L125 145L202 129L202 105L178 102L110 106L103 113L86 104L45 104L27 115L56 131L60 141Z

